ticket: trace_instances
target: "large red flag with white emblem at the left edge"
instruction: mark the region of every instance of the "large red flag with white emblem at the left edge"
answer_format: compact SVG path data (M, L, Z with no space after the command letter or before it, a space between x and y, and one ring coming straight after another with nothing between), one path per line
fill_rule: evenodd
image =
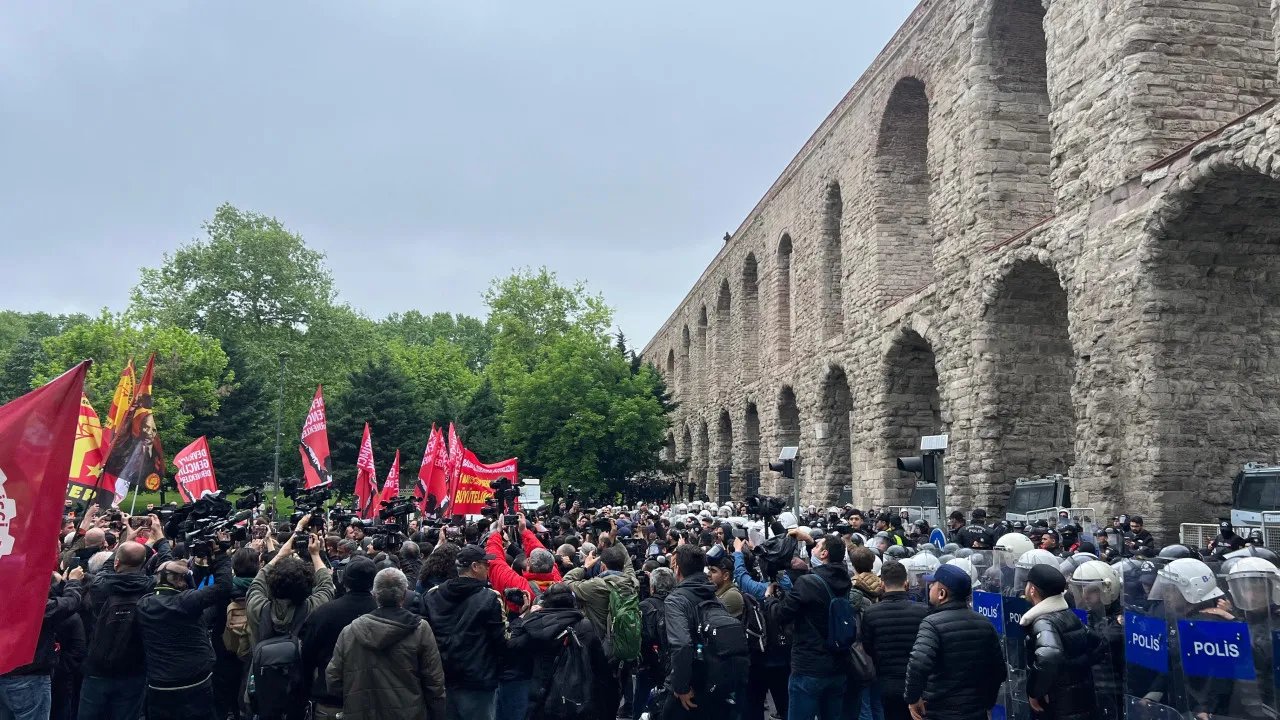
M0 675L35 659L88 360L0 407Z

